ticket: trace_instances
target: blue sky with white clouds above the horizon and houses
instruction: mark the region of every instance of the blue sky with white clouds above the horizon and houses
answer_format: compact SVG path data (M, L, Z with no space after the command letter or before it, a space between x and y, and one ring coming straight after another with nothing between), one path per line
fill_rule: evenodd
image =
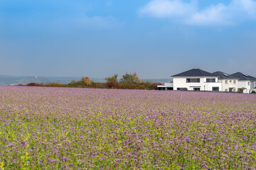
M253 0L0 0L0 74L256 77Z

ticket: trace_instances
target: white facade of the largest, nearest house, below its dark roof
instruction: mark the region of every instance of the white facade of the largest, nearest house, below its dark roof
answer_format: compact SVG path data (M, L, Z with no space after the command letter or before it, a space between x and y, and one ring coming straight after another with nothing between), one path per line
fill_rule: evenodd
M188 82L187 79L200 79L200 82ZM215 79L215 82L207 82L206 79ZM188 91L222 91L222 86L218 82L218 77L174 77L174 90L182 89Z

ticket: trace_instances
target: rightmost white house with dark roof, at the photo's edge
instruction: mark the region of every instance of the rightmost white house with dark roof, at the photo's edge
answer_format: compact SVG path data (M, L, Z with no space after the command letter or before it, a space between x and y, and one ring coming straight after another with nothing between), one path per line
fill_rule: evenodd
M236 72L231 74L231 76L238 78L238 91L242 91L242 88L245 90L244 93L250 94L252 89L256 87L256 78L251 77L247 74L242 74L241 72Z

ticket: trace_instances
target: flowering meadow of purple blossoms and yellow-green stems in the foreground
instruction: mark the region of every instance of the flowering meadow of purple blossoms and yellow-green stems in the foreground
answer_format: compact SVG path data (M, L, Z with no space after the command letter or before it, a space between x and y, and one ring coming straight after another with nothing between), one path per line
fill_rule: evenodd
M0 169L255 169L256 95L0 86Z

